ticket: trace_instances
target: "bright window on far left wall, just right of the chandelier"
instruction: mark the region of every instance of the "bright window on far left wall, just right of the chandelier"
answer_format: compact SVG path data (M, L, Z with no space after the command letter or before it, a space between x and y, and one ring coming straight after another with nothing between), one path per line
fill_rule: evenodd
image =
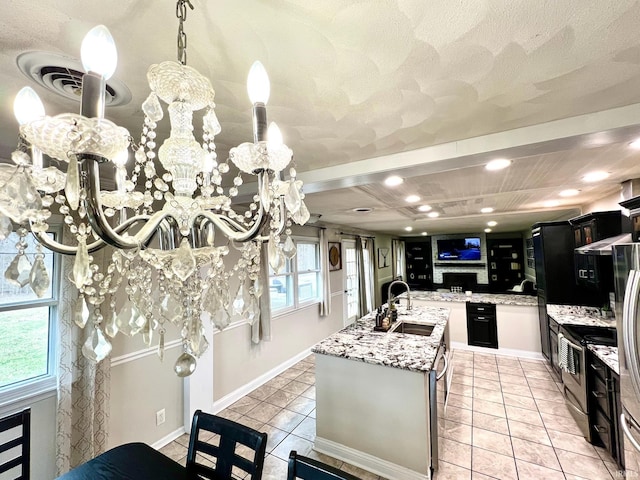
M269 268L271 310L281 311L312 303L320 296L320 245L317 240L298 239L297 253L275 275Z

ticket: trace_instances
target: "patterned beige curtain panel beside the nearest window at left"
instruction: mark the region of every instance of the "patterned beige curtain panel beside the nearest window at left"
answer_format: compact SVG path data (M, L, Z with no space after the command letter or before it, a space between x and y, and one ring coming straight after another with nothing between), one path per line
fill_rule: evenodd
M94 253L94 258L99 253ZM75 258L63 256L58 309L56 469L61 475L107 449L111 359L95 364L82 355L91 333L73 321L77 290L68 278ZM97 259L96 259L97 260Z

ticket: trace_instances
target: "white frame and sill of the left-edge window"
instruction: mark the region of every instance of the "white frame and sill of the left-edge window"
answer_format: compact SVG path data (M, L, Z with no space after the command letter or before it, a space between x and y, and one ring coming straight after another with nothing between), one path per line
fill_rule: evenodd
M49 232L56 237L62 236L61 225L52 226ZM47 373L0 387L0 416L8 414L18 408L22 408L23 406L28 406L34 402L54 396L58 388L58 324L60 321L59 312L60 292L62 289L63 258L59 253L51 253L53 254L53 267L50 272L51 297L29 300L27 302L7 303L0 306L0 312L49 307Z

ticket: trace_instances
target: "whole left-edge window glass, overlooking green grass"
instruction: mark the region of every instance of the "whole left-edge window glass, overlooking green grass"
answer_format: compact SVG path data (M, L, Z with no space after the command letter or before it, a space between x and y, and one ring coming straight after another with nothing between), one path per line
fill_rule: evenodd
M16 233L0 241L0 392L50 380L55 374L58 259L51 251L42 249L51 284L43 297L38 298L29 285L21 288L4 276L16 256L18 241ZM33 264L37 242L30 234L26 241L26 257ZM12 396L3 395L1 400L7 401Z

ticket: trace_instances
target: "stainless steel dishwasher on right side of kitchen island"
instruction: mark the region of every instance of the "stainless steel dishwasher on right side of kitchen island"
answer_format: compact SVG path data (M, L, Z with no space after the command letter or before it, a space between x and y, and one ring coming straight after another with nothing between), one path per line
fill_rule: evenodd
M431 473L438 469L438 407L447 409L453 375L451 351L443 338L429 372L429 425L431 431ZM440 400L440 401L439 401Z

